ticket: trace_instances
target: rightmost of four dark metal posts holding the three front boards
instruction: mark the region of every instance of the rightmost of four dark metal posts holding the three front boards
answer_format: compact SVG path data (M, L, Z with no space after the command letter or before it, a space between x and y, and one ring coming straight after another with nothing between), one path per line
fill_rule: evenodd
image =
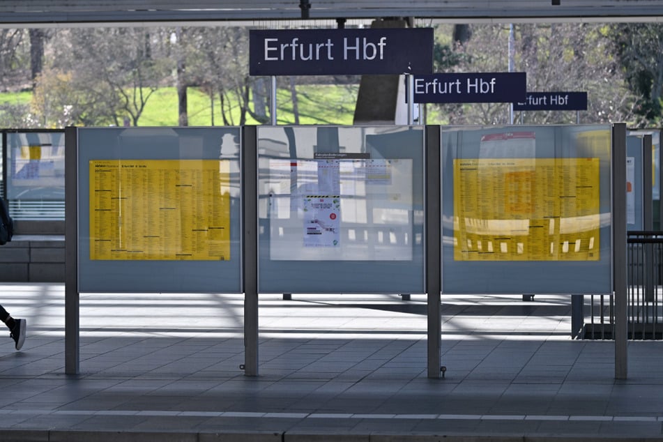
M612 247L615 296L615 378L628 373L628 280L626 245L626 125L612 128Z

